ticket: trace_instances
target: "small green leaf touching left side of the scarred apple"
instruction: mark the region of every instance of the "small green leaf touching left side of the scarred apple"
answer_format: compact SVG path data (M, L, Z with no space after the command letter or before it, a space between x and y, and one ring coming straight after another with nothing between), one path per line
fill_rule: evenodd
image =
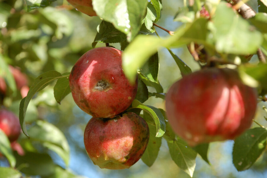
M62 74L63 78L58 79L54 87L54 96L59 104L71 92L69 87L69 74L69 72Z

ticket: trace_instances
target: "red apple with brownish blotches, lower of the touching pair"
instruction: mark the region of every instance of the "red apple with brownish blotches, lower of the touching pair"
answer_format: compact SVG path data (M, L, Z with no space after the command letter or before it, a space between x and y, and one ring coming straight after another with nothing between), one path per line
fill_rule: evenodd
M113 119L93 117L84 132L86 152L94 164L106 169L127 169L143 155L149 141L145 120L128 112Z

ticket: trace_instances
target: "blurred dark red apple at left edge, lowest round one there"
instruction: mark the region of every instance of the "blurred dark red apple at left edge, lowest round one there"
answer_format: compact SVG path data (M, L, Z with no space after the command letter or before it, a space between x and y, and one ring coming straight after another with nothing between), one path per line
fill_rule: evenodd
M4 131L10 142L14 142L20 136L20 121L13 112L6 109L0 110L0 129Z

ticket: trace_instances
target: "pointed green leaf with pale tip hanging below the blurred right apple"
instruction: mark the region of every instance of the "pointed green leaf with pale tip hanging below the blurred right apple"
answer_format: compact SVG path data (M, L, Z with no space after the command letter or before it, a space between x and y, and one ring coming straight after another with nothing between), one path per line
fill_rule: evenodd
M163 137L167 141L172 160L192 177L196 167L197 152L189 147L184 140L175 136L169 123L166 123L166 133Z

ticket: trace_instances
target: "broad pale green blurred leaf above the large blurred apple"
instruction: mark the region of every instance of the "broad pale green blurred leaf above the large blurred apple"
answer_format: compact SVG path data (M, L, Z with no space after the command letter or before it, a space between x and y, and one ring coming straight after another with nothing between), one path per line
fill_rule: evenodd
M214 26L211 30L218 52L253 54L262 43L261 33L251 28L249 23L240 15L236 15L226 3L221 2L217 6L212 22Z

